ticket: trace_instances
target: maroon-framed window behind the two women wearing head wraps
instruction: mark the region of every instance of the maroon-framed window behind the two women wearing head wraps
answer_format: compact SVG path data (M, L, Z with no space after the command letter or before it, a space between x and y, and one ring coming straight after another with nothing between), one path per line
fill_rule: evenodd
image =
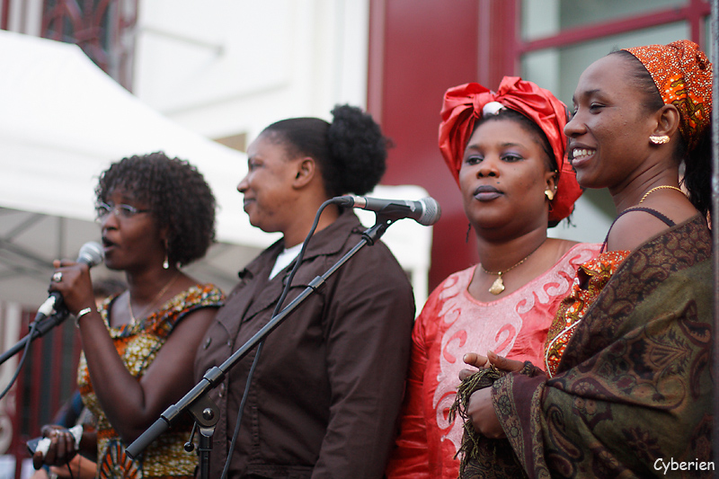
M706 0L521 0L519 75L552 91L567 105L581 72L613 49L688 39L710 54ZM600 242L614 205L606 190L585 191L572 217L576 228L551 235Z

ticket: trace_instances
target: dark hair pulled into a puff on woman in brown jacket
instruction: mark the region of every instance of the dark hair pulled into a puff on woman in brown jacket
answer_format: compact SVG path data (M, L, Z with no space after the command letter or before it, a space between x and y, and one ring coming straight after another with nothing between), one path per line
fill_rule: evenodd
M363 195L385 173L390 142L371 115L357 107L337 105L332 114L332 123L318 118L280 120L261 135L284 146L288 157L314 158L330 197Z

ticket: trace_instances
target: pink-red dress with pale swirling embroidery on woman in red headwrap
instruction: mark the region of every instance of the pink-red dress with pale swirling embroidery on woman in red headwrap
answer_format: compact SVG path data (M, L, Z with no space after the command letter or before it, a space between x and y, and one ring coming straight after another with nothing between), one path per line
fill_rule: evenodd
M475 267L458 271L436 288L417 317L401 430L387 475L455 479L461 421L448 421L467 352L493 350L509 359L544 363L549 325L583 262L600 244L576 244L552 269L523 288L483 303L467 291Z

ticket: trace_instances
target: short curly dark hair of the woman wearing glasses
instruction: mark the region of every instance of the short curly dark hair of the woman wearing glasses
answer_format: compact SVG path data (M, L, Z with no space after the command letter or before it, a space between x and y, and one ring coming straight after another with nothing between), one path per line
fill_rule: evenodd
M166 227L168 261L184 266L202 258L215 240L215 196L197 168L163 152L133 155L111 164L95 188L98 201L127 190L149 205Z

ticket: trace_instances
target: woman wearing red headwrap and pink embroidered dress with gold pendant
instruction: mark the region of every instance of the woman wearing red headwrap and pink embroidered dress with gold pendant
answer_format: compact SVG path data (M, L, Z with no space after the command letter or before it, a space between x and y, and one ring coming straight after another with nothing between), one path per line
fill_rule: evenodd
M413 330L401 431L390 478L456 478L461 423L448 420L462 357L495 350L541 359L546 332L577 267L597 244L547 238L581 195L565 161L566 107L505 77L497 93L463 84L445 94L439 148L475 230L480 264L436 288Z

